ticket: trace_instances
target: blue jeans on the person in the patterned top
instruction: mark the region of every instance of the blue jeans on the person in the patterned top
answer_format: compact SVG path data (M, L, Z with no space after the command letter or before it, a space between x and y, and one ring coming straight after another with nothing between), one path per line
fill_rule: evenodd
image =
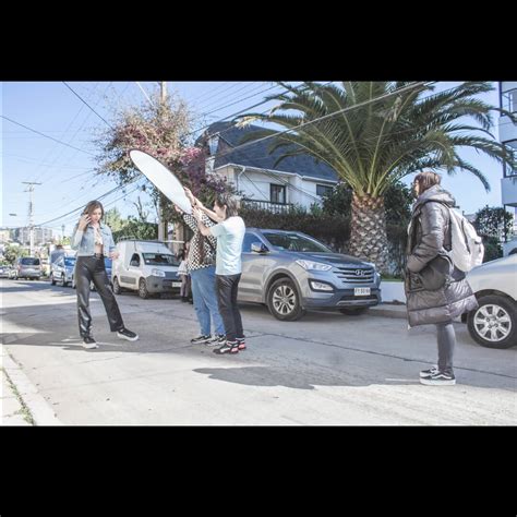
M217 306L215 287L215 266L202 267L190 272L192 279L192 298L194 299L195 314L200 322L201 334L211 334L211 315L215 334L225 334L225 327Z

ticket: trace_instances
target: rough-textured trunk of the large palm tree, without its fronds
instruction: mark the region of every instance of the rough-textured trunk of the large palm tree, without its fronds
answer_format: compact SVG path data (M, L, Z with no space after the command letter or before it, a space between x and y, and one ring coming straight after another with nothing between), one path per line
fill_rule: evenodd
M352 194L352 219L348 251L358 258L373 262L382 273L388 272L388 242L384 197Z

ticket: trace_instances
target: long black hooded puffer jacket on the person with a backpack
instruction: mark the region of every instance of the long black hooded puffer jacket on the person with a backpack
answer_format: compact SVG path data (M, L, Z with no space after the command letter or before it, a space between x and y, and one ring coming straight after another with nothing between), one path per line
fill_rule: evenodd
M447 191L434 185L420 195L413 205L406 270L408 321L411 327L450 322L478 306L465 274L454 267L447 257L447 250L450 250L450 218L444 204L453 207L455 201ZM435 273L435 263L441 265L441 273ZM429 288L428 278L434 281L438 278L443 286Z

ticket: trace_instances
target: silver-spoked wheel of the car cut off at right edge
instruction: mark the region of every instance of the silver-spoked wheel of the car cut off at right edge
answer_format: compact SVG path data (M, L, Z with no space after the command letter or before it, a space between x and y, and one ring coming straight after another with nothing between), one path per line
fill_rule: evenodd
M490 294L478 300L467 326L472 339L482 347L510 348L517 344L517 308L509 300Z

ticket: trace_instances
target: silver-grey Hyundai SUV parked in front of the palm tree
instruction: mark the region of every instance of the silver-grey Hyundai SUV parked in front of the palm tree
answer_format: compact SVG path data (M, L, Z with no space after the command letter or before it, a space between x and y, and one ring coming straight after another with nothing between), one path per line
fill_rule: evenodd
M334 253L299 231L247 228L238 301L265 303L282 321L308 309L360 314L381 302L375 266Z

